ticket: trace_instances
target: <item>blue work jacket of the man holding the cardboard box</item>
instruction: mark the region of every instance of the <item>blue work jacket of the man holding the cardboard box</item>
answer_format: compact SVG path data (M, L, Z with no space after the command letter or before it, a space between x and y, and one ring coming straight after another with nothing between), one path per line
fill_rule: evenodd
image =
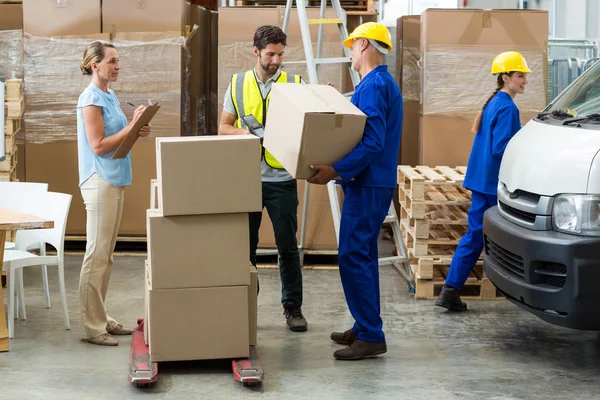
M343 184L396 188L403 106L400 88L387 65L365 75L351 101L367 115L363 138L333 168Z

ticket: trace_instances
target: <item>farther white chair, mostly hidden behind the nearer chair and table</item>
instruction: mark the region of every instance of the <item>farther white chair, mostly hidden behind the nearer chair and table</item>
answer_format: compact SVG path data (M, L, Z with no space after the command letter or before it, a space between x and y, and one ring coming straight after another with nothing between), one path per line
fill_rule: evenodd
M35 196L37 193L48 192L47 183L38 182L0 182L0 208L8 208L11 210L20 211L24 201L30 196ZM14 242L6 242L5 250L14 249ZM30 249L39 249L40 255L46 255L46 246L42 243L33 243ZM44 294L46 295L46 304L50 308L50 288L48 287L48 268L42 265L42 282L44 284ZM23 286L21 281L20 286ZM24 305L21 304L24 308Z

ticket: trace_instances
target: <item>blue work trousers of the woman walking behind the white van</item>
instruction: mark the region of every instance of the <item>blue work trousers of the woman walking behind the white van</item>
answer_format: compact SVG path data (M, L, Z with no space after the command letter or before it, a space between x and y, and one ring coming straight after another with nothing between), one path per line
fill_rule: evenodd
M483 251L483 214L497 204L496 195L471 192L469 230L462 237L446 277L446 285L461 290Z

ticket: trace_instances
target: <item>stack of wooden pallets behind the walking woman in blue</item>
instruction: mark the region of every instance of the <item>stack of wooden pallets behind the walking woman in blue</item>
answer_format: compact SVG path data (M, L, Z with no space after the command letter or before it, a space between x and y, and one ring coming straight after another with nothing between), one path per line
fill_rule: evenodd
M466 167L398 167L400 222L415 274L417 299L437 298L454 251L467 232L471 193L462 187L466 170ZM461 296L499 298L483 273L481 258Z

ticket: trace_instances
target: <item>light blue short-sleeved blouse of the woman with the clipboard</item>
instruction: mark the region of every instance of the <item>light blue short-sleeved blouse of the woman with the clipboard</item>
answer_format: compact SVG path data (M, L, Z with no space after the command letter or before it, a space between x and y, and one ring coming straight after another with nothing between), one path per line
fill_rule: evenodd
M82 108L87 106L102 107L104 120L104 136L112 136L127 126L127 117L115 92L102 91L93 82L81 93L77 103L77 149L79 158L79 186L83 185L95 173L113 186L131 185L131 154L125 158L113 160L111 157L117 147L100 156L94 154L85 132Z

